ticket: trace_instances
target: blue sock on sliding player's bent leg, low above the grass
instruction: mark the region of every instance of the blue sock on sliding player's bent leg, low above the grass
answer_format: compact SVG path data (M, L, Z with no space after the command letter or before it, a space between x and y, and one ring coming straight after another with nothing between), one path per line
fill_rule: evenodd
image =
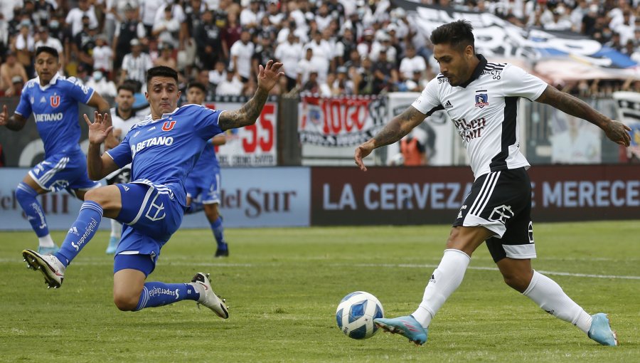
M200 294L188 283L144 283L136 310L173 304L182 300L198 300Z

